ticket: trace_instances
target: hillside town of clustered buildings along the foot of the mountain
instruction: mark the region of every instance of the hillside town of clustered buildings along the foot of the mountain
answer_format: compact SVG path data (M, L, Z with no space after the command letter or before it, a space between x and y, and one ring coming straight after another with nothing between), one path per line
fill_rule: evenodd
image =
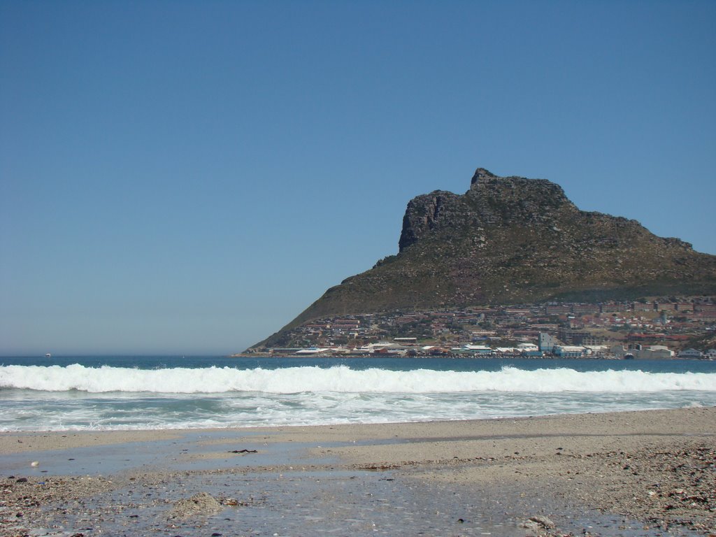
M266 356L716 359L712 297L548 302L314 319Z

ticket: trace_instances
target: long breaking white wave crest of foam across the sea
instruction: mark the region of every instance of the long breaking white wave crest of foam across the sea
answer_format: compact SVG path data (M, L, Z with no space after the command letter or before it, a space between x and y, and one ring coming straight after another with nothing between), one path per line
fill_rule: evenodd
M128 369L124 367L60 366L0 367L0 388L43 392L151 392L156 394L221 394L226 392L401 393L431 392L716 392L716 373L654 373L504 367L500 371L435 371L415 369L350 369L287 367L282 369Z

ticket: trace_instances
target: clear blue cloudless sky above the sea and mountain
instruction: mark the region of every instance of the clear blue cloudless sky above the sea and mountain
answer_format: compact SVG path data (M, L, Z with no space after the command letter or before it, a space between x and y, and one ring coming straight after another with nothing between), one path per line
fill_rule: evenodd
M716 253L716 2L0 2L0 354L237 352L475 168Z

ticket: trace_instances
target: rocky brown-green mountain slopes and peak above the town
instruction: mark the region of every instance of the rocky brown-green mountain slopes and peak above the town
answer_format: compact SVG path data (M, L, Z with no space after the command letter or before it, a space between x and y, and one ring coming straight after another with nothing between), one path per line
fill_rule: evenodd
M309 319L395 309L716 292L716 256L635 220L581 211L548 180L484 168L463 195L435 190L410 200L398 246L281 332Z

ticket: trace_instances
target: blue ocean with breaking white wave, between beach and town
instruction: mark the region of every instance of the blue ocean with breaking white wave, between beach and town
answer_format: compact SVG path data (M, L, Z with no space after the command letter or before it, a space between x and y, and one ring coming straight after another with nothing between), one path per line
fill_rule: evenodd
M716 362L0 357L0 431L473 420L716 406Z

